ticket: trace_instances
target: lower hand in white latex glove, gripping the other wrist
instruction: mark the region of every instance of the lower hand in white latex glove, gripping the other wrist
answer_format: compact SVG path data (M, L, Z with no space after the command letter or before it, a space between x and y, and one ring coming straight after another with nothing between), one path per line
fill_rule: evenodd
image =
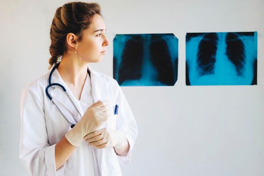
M96 148L123 148L128 142L123 132L107 128L87 134L84 139L89 145L95 146Z

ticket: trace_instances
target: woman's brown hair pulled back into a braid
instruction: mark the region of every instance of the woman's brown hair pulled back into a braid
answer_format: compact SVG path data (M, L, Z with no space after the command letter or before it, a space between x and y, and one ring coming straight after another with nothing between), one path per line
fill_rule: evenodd
M50 28L49 68L58 63L58 57L67 51L67 34L71 32L78 36L77 41L81 41L83 30L89 28L95 14L101 15L101 8L97 3L72 2L56 10Z

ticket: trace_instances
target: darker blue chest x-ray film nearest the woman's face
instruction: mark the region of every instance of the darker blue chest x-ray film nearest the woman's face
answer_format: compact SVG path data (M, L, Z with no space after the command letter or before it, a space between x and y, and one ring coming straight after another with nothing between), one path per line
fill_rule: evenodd
M121 86L174 85L178 39L173 34L117 34L113 67Z

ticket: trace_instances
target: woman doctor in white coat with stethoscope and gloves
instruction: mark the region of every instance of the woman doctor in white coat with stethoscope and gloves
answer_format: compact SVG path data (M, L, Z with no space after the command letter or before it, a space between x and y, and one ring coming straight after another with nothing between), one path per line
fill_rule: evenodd
M119 163L131 161L137 125L128 102L115 79L89 66L109 44L100 11L79 2L56 10L51 68L21 96L19 157L31 175L122 175Z

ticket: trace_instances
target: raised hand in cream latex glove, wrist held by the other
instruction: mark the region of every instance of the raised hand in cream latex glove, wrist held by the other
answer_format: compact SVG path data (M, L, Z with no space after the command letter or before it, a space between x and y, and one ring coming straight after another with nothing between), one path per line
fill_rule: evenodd
M66 139L74 146L79 146L83 137L97 130L107 121L109 112L108 101L98 101L90 106L80 121L65 134Z

